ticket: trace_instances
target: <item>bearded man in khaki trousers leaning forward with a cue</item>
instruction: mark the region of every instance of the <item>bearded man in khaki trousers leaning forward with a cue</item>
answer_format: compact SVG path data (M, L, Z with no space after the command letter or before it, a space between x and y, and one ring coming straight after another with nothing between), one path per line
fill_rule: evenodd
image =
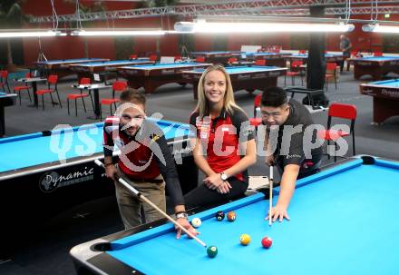
M177 221L197 234L187 220L184 200L170 148L161 128L146 119L145 97L130 89L121 93L117 115L104 122L103 146L107 177L115 182L115 192L125 229L141 224L141 206L145 221L156 221L163 216L141 201L117 182L122 176L161 210L166 211L165 187L175 206ZM118 163L113 163L114 146L121 150ZM117 164L117 165L115 165ZM178 238L180 237L178 229Z

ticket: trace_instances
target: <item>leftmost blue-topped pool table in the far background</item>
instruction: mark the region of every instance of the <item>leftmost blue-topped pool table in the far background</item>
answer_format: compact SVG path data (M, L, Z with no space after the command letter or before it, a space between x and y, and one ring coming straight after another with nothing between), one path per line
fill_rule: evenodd
M84 63L91 63L91 62L102 62L108 61L109 59L106 58L76 58L76 59L59 59L59 60L45 60L45 61L38 61L34 62L36 67L43 71L44 74L57 74L58 77L63 77L73 73L69 65L70 64L84 64Z

